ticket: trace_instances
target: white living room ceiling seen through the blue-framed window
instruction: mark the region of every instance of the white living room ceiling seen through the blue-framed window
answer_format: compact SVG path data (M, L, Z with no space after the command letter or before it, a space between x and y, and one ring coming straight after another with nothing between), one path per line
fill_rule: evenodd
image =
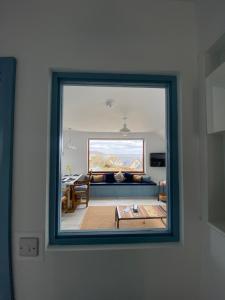
M112 106L106 105L107 100ZM123 117L132 132L165 133L163 88L64 86L63 129L118 132Z

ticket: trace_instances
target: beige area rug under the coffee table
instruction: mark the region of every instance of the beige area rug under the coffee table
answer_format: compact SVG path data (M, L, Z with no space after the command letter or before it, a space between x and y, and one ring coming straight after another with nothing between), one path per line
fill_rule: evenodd
M115 206L89 206L80 229L115 229L115 209ZM165 228L165 224L160 219L124 220L120 221L120 228Z

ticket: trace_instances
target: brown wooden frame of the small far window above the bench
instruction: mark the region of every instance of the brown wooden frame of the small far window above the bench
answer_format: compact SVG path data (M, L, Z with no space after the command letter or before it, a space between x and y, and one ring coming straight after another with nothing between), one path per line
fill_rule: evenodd
M119 171L121 171L121 172L129 172L129 173L132 173L132 174L144 174L145 173L145 139L144 138L129 138L129 137L126 137L126 138L89 138L88 139L88 151L87 151L87 155L88 155L88 157L87 157L87 160L88 160L88 170L87 170L87 172L88 173L90 173L90 159L89 159L89 157L90 157L90 155L89 155L89 152L90 152L90 140L95 140L95 141L97 141L97 140L108 140L108 141L112 141L112 140L116 140L116 141L118 141L118 140L123 140L123 141L125 141L125 140L127 140L127 141L131 141L131 140L134 140L134 141L136 141L136 140L140 140L140 141L142 141L142 165L143 165L143 167L142 167L142 171L125 171L125 170L121 170L121 169L118 169L118 170L113 170L113 171L93 171L92 170L92 174L107 174L107 173L116 173L116 172L119 172Z

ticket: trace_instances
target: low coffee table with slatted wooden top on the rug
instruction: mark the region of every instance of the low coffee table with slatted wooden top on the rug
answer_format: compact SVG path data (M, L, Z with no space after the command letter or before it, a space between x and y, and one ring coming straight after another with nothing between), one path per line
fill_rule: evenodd
M166 217L166 209L161 205L148 205L148 209L144 205L138 205L138 212L133 211L133 205L119 205L115 210L117 228L120 228L120 221L122 220L161 219L163 221Z

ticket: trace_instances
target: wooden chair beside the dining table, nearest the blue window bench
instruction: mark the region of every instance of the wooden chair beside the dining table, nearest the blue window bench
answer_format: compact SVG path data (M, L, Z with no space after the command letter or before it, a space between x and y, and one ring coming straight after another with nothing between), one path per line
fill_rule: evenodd
M73 207L79 204L86 204L88 207L89 191L90 191L91 173L79 179L73 185Z

